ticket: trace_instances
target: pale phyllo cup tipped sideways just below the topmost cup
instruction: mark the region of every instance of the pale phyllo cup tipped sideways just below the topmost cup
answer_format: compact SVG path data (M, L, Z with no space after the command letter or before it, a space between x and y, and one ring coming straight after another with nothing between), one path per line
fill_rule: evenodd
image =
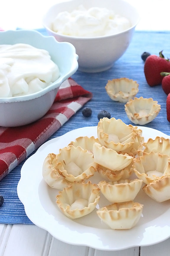
M118 154L115 150L101 146L101 144L93 144L93 157L95 163L106 167L112 171L120 171L129 166L133 158L127 154Z

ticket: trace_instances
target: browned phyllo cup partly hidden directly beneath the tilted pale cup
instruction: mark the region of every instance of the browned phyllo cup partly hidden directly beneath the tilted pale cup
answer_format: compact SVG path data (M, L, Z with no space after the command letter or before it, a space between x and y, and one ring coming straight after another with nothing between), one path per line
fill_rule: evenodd
M120 179L128 179L132 174L132 163L120 171L112 171L101 165L97 166L97 171L104 180L118 181Z

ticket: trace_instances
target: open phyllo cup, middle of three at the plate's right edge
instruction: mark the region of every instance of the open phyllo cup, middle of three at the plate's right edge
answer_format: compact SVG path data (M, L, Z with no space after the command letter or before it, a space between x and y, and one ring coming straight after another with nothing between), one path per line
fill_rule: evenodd
M170 157L153 151L143 153L143 156L133 159L132 168L139 179L150 184L170 174Z

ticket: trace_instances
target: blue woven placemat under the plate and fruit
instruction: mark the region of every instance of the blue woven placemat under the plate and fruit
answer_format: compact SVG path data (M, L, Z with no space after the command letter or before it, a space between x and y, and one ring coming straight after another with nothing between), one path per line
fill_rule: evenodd
M46 35L44 29L39 31ZM97 125L97 114L103 109L109 111L111 117L120 118L126 124L131 123L124 111L124 103L112 101L105 90L108 80L120 77L127 77L139 83L137 97L152 97L158 101L158 104L161 104L159 115L145 126L170 135L170 124L166 118L166 94L163 92L161 85L150 87L147 84L143 72L144 63L141 59L141 54L145 51L158 55L161 50L163 50L164 56L169 58L169 42L170 32L136 31L126 53L114 63L111 69L95 74L77 71L72 78L84 89L93 93L92 100L86 104L86 106L92 109L92 116L89 118L83 117L82 109L80 109L49 139L61 136L76 128ZM133 125L133 123L131 124ZM0 207L0 223L32 224L26 216L24 206L17 196L17 184L20 180L20 170L24 162L20 163L19 166L14 168L13 171L0 181L0 194L4 196L4 204Z

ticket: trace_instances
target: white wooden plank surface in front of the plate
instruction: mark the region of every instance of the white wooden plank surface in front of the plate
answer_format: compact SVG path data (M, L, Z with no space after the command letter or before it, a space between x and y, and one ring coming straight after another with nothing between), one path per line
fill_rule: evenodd
M159 244L101 251L63 243L35 225L0 224L0 256L169 256L170 238Z

